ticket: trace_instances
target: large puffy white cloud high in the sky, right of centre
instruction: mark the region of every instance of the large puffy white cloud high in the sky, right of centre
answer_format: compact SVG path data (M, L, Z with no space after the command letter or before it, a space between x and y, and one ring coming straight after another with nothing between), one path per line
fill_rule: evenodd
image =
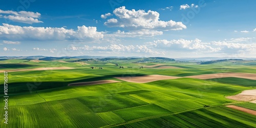
M125 7L116 8L113 11L117 18L108 19L104 25L109 27L122 27L129 30L182 30L186 26L181 22L159 20L159 13L156 11L127 10Z

